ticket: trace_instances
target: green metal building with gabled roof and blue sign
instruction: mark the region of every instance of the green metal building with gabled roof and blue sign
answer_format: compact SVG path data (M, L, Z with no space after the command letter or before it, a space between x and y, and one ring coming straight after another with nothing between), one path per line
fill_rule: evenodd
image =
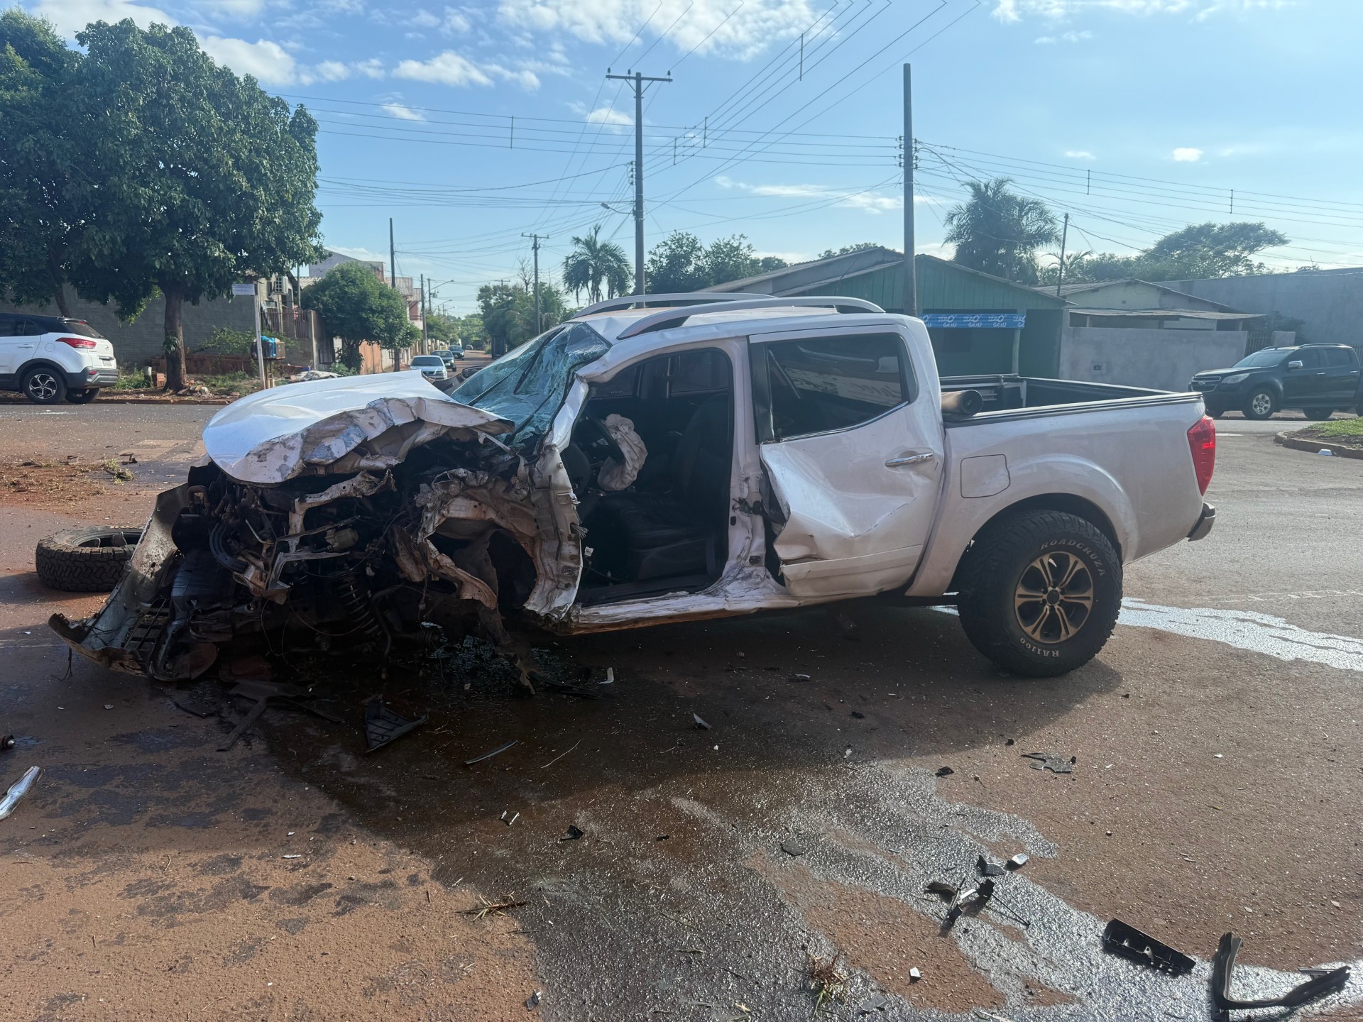
M943 376L1059 373L1066 301L930 255L915 256L917 313L928 326ZM904 312L904 256L867 248L721 283L752 294L836 294Z

